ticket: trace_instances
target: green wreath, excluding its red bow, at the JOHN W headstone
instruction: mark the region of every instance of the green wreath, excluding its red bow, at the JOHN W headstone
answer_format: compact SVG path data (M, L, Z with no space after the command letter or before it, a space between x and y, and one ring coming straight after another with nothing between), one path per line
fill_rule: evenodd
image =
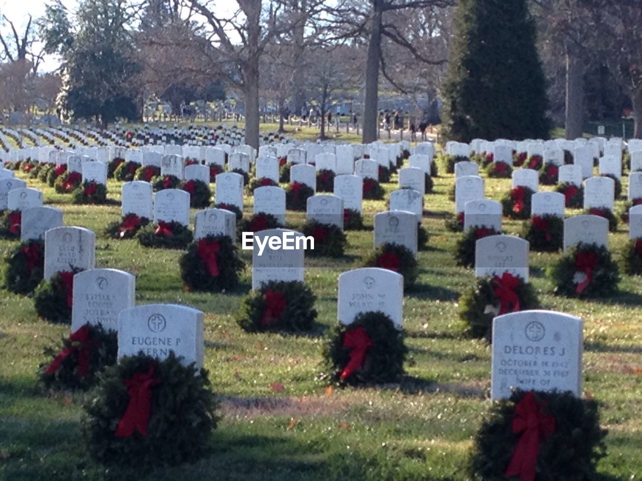
M347 332L365 330L370 344L360 366L353 373L342 373L351 360L353 349L343 347ZM336 325L327 337L323 351L322 380L338 385L386 384L399 382L404 376L403 364L408 348L403 330L383 312L361 312L350 325Z

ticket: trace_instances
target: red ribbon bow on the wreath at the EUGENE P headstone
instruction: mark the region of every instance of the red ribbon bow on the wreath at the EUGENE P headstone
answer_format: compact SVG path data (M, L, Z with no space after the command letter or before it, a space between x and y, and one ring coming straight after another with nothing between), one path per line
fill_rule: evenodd
M160 384L160 379L154 379L156 366L150 366L146 373L136 373L125 380L129 404L123 418L116 426L116 437L130 437L137 430L142 435L149 434L150 409L152 407L152 387Z

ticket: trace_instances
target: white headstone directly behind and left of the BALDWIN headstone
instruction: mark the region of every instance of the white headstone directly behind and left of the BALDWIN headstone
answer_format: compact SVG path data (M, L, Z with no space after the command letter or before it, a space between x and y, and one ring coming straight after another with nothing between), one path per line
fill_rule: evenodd
M56 227L44 235L44 279L74 269L93 269L96 234L83 227Z

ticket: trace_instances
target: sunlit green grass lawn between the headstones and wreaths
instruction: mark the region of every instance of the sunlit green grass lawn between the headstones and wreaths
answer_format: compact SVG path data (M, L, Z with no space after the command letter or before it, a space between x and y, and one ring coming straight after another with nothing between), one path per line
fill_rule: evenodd
M315 380L323 335L336 322L337 278L358 267L372 248L372 232L349 232L343 260L306 261L306 282L317 293L318 328L310 335L248 334L233 314L250 286L227 294L184 292L178 271L180 252L144 249L137 241L112 241L103 228L119 218L119 207L71 205L38 181L46 202L64 210L67 225L97 234L97 267L137 276L137 303L175 302L205 312L205 367L220 394L223 421L211 439L210 454L193 465L130 473L140 480L465 480L473 436L489 408L490 348L463 335L458 293L473 285L474 274L455 266L451 250L458 235L446 232L443 215L453 203L447 192L452 176L435 179L426 196L424 226L430 249L419 254L419 286L406 292L404 328L410 357L406 364L414 389L336 389ZM394 190L396 178L386 184ZM119 200L120 186L109 183ZM489 197L499 199L508 180L487 179ZM364 215L384 210L384 201L366 201ZM246 212L251 212L246 207ZM301 215L288 212L293 226ZM510 233L521 224L506 221ZM609 236L617 255L627 232ZM0 249L15 246L1 241ZM247 252L243 256L249 261ZM642 283L623 278L621 293L604 301L556 298L543 276L555 254L531 255L532 283L546 308L585 321L584 389L602 405L609 429L608 456L600 462L605 477L642 477ZM0 479L102 480L107 473L87 455L80 430L87 394L51 394L37 382L42 350L67 335L65 326L37 318L29 298L0 294ZM284 385L273 392L270 384ZM171 443L171 439L168 439Z

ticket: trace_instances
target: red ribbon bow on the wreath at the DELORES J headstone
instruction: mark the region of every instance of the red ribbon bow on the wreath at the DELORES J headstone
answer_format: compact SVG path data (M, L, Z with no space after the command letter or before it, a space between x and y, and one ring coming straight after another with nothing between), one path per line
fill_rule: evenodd
M525 396L515 407L516 418L513 419L512 431L514 434L523 432L513 456L504 473L505 478L519 476L521 481L535 481L535 464L539 443L555 432L555 418L544 414L546 401L537 403L532 391Z

